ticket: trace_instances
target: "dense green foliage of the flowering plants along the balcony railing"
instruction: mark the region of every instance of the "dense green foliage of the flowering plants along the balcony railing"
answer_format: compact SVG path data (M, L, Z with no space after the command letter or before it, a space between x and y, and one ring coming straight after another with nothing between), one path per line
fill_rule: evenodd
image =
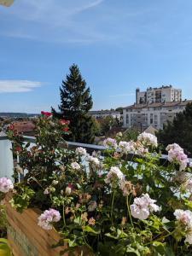
M9 137L15 142L12 134ZM55 247L67 243L61 254L73 255L82 248L98 256L182 256L191 252L191 245L185 241L189 230L173 214L176 209L192 209L185 183L176 178L175 163L161 165L160 154L138 140L129 144L135 152L131 161L130 150L119 151L115 146L104 151L104 159L96 152L92 157L80 157L60 147L62 137L58 119L38 119L37 145L31 148L21 143L20 168L28 172L24 181L15 185L11 201L19 211L51 207L61 213L61 220L51 223L61 235ZM119 143L120 147L121 140L119 134L115 145ZM74 163L79 164L78 168L73 167ZM113 167L122 177L111 173ZM131 205L143 194L148 194L160 211L152 211L148 202L144 206L148 216L134 218Z

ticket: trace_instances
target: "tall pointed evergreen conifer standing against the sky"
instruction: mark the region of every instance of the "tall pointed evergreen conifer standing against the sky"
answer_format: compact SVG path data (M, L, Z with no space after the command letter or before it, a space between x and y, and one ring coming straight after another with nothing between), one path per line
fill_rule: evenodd
M90 88L79 72L79 67L73 64L69 68L67 78L62 80L60 87L61 104L58 106L61 113L52 108L55 118L70 120L70 135L67 140L79 143L92 143L94 141L95 127L88 114L93 102Z

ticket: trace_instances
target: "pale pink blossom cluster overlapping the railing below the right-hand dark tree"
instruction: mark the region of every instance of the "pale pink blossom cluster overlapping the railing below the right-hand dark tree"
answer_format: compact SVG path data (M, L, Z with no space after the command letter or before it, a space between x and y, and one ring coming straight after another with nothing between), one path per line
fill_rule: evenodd
M168 145L166 147L166 151L168 151L168 160L178 164L180 166L180 171L187 167L189 162L188 156L184 154L183 148L181 148L177 143Z

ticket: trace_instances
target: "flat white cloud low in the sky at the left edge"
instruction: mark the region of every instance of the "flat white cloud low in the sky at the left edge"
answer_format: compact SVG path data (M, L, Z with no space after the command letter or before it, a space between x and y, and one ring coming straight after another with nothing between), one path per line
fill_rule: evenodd
M0 93L27 92L43 84L28 80L0 80Z

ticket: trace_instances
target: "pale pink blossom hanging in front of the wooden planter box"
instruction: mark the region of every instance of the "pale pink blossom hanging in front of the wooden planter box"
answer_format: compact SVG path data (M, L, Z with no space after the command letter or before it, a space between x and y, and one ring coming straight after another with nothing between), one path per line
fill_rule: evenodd
M60 221L60 219L60 212L55 209L45 210L44 213L38 217L38 225L44 230L52 230L53 223Z

